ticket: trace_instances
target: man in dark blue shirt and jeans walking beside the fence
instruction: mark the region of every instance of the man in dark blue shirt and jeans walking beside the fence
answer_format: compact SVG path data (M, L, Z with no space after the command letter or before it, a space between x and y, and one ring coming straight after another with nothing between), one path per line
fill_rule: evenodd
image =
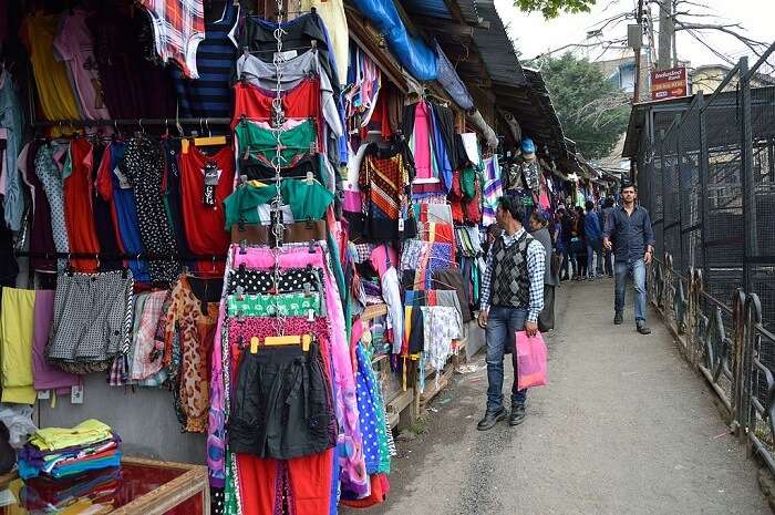
M627 276L632 274L636 285L636 326L638 332L649 334L651 329L645 325L645 266L651 264L654 233L651 229L649 212L636 205L638 189L634 185L628 183L621 185L622 205L607 217L602 243L607 249L613 249L616 259L613 323L618 326L622 322Z

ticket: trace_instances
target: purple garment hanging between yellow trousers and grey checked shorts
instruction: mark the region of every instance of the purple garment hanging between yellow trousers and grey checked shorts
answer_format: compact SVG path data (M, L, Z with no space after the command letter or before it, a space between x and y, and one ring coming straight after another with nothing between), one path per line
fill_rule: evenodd
M66 394L71 387L81 385L81 377L63 372L45 361L45 346L54 318L54 290L35 291L35 318L32 328L32 377L35 390L55 390Z

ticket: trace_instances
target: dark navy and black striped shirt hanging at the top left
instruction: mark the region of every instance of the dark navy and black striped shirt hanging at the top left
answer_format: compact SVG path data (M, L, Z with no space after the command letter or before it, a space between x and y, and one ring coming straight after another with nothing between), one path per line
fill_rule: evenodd
M170 70L183 117L231 116L231 68L237 59L235 31L239 6L227 1L223 16L206 23L205 39L196 52L198 79L188 79L173 66Z

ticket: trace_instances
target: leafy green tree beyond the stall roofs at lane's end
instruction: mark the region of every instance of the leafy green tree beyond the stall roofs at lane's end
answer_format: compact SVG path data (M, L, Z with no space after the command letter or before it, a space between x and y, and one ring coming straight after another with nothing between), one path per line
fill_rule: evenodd
M608 156L627 130L630 95L595 64L571 53L544 58L539 64L566 137L585 157Z

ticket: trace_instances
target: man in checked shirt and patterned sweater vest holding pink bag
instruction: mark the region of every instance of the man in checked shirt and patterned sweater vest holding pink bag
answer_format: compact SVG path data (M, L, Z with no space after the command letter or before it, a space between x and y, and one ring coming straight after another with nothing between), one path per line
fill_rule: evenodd
M504 354L512 351L514 383L509 425L525 420L527 390L517 384L516 332L538 331L538 313L544 309L546 253L540 241L528 235L521 224L521 208L512 197L500 197L495 213L504 229L487 255L482 281L482 309L478 323L487 340L487 411L477 429L486 431L506 418L503 405Z

